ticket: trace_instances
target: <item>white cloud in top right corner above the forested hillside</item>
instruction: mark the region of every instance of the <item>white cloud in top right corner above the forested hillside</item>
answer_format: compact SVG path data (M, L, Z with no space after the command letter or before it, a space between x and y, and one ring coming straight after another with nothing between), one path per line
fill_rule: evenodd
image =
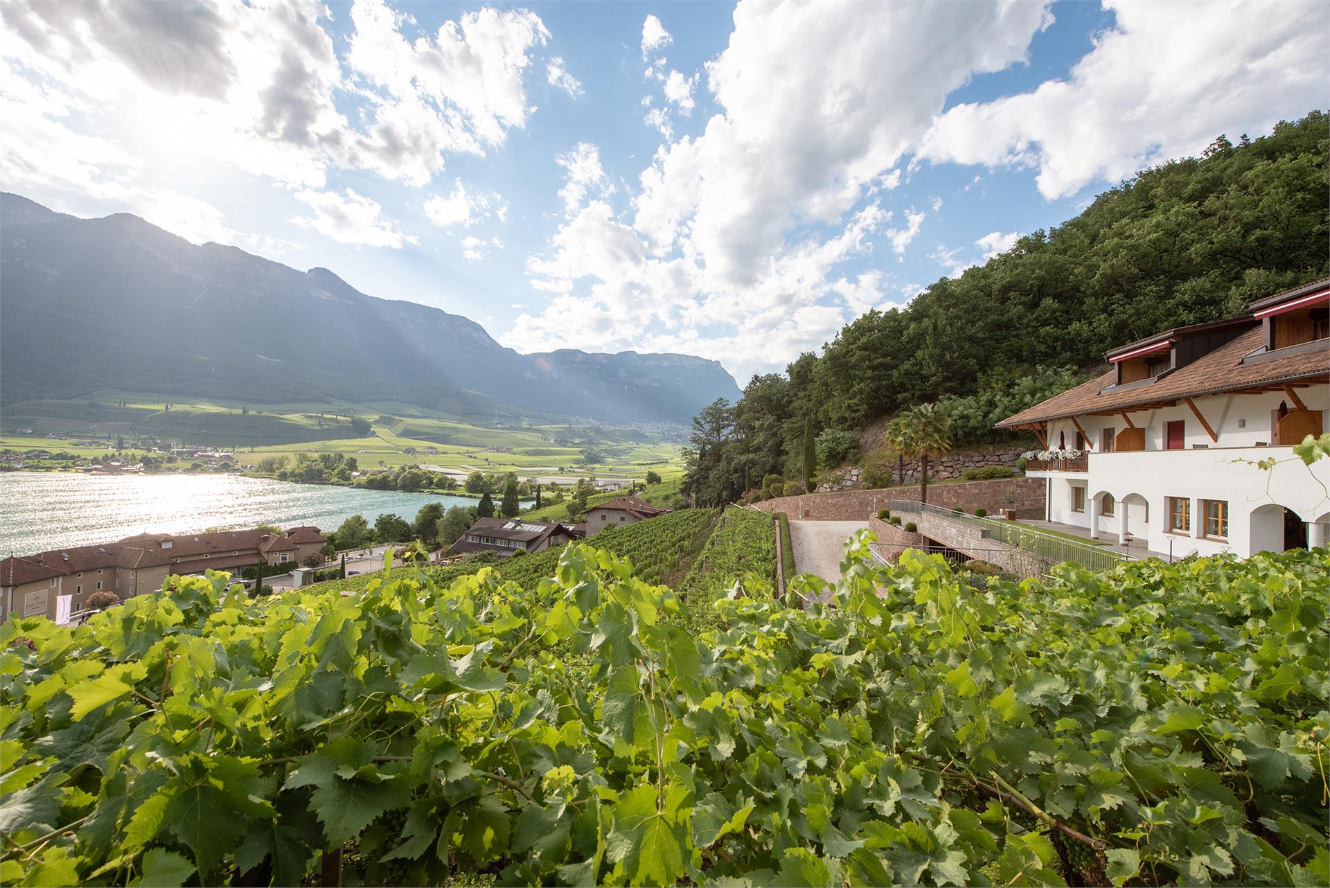
M934 161L1016 164L1039 190L1067 197L1220 133L1266 132L1325 104L1330 7L1105 0L1116 25L1067 80L942 114L922 145Z

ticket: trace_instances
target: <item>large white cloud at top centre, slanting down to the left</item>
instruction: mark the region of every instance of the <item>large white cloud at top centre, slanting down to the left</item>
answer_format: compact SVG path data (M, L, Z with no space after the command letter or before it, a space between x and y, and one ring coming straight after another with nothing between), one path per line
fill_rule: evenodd
M797 225L835 223L899 181L892 169L947 94L1023 60L1047 23L1035 3L742 0L706 65L724 110L657 153L634 226L660 255L696 253L717 284L751 284Z

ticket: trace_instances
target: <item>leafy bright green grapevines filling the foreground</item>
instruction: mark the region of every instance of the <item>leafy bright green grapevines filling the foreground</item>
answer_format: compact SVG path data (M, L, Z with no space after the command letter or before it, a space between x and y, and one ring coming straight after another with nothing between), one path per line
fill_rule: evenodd
M0 883L1330 880L1325 550L980 594L861 537L805 611L770 548L726 512L694 574L751 578L696 634L592 545L11 621Z

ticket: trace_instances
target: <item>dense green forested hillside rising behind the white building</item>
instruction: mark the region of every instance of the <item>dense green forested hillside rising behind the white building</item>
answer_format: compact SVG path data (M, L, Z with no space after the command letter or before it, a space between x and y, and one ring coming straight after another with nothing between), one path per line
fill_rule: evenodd
M733 408L694 420L692 489L734 499L765 475L798 475L805 420L857 429L942 400L956 443L1079 382L1107 350L1160 330L1240 314L1330 271L1330 117L1270 136L1217 138L1100 194L1080 215L1023 237L908 307L870 311L821 356L754 376Z

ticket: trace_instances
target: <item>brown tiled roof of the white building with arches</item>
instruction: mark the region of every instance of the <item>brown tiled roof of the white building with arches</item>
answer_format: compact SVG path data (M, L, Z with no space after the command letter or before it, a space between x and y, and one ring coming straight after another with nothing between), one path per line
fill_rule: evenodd
M1182 397L1217 395L1244 388L1278 386L1286 382L1326 378L1330 374L1330 340L1321 347L1269 352L1269 358L1242 363L1260 351L1261 328L1253 327L1237 339L1202 355L1148 386L1113 387L1116 371L1081 383L1060 395L1035 404L998 423L996 428L1013 428L1051 419L1080 416L1101 411L1125 409ZM1281 350L1282 351L1282 350ZM1319 380L1318 380L1319 382Z

